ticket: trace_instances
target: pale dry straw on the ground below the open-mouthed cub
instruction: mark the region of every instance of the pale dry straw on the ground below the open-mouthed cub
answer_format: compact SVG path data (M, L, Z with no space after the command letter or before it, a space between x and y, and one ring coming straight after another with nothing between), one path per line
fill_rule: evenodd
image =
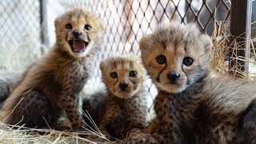
M78 132L70 132L33 129L25 126L6 125L0 122L0 143L113 143L98 130L88 112L84 115L93 123L94 129L87 125Z

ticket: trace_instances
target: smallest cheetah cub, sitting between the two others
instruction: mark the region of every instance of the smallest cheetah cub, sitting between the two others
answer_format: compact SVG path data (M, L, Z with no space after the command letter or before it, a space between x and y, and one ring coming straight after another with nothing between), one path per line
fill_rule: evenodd
M100 63L106 84L106 111L99 130L114 138L137 134L146 126L146 70L137 56L108 58Z

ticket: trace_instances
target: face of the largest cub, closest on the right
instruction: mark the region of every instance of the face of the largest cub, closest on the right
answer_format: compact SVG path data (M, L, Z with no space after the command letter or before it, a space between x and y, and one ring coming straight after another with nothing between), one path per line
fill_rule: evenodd
M212 42L194 24L169 25L145 35L139 47L142 62L158 90L179 93L206 74Z

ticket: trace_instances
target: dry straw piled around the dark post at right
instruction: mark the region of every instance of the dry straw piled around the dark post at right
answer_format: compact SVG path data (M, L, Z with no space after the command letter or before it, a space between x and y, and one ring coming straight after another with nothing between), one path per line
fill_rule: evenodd
M216 22L214 24L212 35L214 49L212 50L213 59L211 66L222 74L254 80L256 78L256 71L248 69L251 69L256 64L256 54L253 45L253 42L256 42L256 38L250 38L249 41L246 41L246 38L241 36L234 38L230 34L229 26L229 22L220 22L219 26L217 26ZM252 29L255 28L253 27ZM244 39L244 41L238 42L238 38ZM230 39L234 40L230 42ZM250 51L246 50L246 43L250 46ZM238 50L245 50L245 52L250 53L248 58L237 55ZM231 65L231 62L233 62L233 65ZM241 62L245 62L246 66L248 66L245 68L246 70L240 69Z

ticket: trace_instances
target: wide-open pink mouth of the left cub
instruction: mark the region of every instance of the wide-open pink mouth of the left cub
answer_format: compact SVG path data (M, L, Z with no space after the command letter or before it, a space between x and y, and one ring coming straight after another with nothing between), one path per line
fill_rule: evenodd
M68 41L71 47L71 50L75 53L82 53L86 50L89 42L85 42L82 39L73 38Z

